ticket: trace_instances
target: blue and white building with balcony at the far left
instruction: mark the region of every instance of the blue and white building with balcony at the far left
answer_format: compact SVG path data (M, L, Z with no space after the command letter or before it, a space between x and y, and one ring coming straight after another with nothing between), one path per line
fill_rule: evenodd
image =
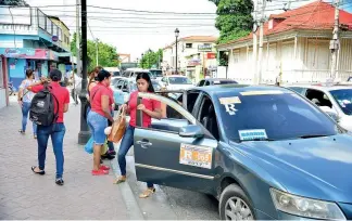
M37 79L54 67L66 73L65 65L71 63L70 30L59 17L37 8L1 6L0 14L3 89L10 81L17 90L27 68L35 70ZM8 99L1 92L0 96L1 101Z

